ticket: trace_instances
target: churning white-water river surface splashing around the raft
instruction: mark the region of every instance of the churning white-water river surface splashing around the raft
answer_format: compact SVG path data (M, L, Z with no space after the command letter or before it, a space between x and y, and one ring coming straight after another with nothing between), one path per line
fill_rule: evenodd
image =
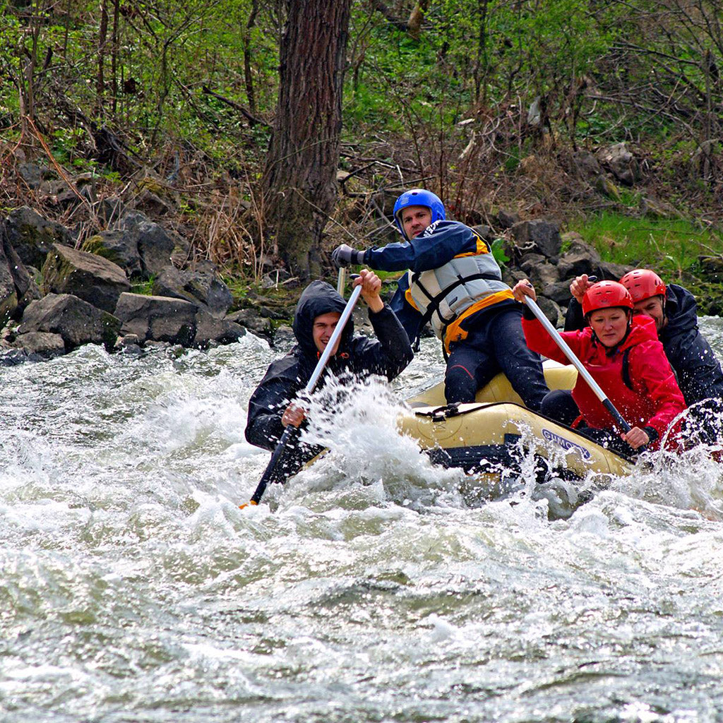
M723 320L703 330L721 355ZM395 431L442 375L425 340L391 389L318 404L333 451L241 510L279 355L0 369L2 723L723 721L721 466L691 453L567 519L469 505Z

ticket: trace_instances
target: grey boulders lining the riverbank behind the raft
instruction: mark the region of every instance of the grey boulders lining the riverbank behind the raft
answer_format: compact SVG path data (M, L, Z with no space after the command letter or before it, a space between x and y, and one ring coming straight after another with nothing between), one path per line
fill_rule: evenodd
M0 224L0 344L6 364L47 359L85 343L109 351L158 344L208 348L236 341L247 329L274 341L291 320L293 289L275 304L262 293L250 294L245 308L232 311L231 290L213 263L189 262L185 239L113 203L106 230L80 247L69 228L27 206ZM477 230L489 241L495 237L492 228ZM627 270L602 262L582 239L566 239L562 252L557 226L549 221L513 223L510 231L507 251L514 262L505 277L509 283L531 278L554 322L562 321L574 275L619 278ZM134 293L131 279L146 281L150 294Z

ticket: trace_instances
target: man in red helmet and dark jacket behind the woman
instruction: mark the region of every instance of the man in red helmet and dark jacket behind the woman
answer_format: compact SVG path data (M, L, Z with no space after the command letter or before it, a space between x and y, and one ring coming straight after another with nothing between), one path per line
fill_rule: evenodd
M586 274L570 284L572 301L565 317L565 330L584 326L581 302L591 281ZM723 370L710 344L698 330L696 299L688 289L669 283L649 269L633 269L620 279L630 291L634 313L651 317L658 338L677 377L685 403L693 406L712 399L707 408L717 408L723 399ZM696 413L702 412L700 405Z

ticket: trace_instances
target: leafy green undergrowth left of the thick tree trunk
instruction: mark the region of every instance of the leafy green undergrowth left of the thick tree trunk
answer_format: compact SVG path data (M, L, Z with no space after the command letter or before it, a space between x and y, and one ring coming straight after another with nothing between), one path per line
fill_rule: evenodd
M244 46L254 113L270 113L276 100L273 29L280 19L274 7L264 5L247 27L253 5L252 0L137 3L121 12L116 43L109 19L100 52L97 1L61 7L35 0L31 13L0 0L0 116L17 121L23 95L26 108L32 98L35 112L42 108L47 114L60 93L98 126L132 129L141 152L167 137L192 139L209 151L226 139L237 142L247 127L233 103L249 106L251 100ZM67 124L67 118L59 123ZM62 138L54 132L54 153L72 163L81 144L69 137L72 130L63 132ZM228 158L227 150L219 155Z

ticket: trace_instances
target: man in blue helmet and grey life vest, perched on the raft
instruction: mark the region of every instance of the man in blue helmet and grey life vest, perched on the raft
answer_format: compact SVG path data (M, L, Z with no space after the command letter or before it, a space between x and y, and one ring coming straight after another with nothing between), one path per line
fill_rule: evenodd
M521 305L487 242L469 226L447 221L442 201L425 189L401 194L394 220L404 241L366 251L342 244L332 260L408 269L390 306L416 344L427 322L442 341L448 403L474 401L479 388L504 372L524 403L539 410L549 391L542 361L525 342Z

